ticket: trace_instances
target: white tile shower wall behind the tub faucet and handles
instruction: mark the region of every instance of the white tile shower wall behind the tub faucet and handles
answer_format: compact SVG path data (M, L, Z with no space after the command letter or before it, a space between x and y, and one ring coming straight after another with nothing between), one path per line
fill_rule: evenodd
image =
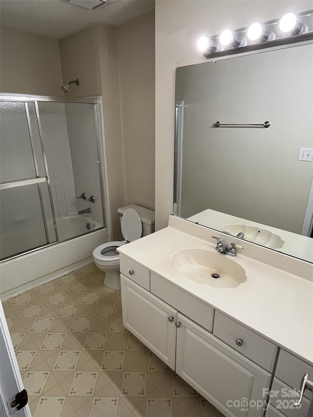
M77 209L91 209L87 216L103 224L98 148L92 104L67 103L67 132L76 193L93 196L95 202L77 200Z

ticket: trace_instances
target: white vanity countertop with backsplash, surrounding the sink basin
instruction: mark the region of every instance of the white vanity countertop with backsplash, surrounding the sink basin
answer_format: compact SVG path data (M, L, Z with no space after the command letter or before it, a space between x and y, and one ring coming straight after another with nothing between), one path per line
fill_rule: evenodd
M232 260L246 271L246 282L235 288L213 288L198 284L174 268L171 257L180 249L215 251L212 235L217 232L170 216L169 226L117 250L205 303L265 336L278 346L313 364L313 264L292 259L245 242ZM222 237L227 238L226 235ZM236 238L230 238L236 241ZM269 251L269 252L268 252ZM278 267L255 261L262 254ZM223 262L221 254L221 262ZM252 258L253 257L253 258ZM293 275L284 266L299 270ZM279 268L279 269L278 269ZM301 277L302 276L302 277ZM312 280L310 280L312 277Z

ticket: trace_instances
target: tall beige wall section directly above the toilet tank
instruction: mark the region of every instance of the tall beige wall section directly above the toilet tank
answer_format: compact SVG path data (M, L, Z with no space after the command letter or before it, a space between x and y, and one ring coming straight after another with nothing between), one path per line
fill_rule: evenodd
M125 204L155 209L155 14L117 27Z

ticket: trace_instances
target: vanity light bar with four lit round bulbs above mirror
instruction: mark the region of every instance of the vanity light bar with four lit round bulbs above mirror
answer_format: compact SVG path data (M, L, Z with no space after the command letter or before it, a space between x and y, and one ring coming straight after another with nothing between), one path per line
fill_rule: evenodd
M281 19L237 30L225 29L220 35L201 37L197 46L206 58L215 58L308 40L313 40L313 10L287 13Z

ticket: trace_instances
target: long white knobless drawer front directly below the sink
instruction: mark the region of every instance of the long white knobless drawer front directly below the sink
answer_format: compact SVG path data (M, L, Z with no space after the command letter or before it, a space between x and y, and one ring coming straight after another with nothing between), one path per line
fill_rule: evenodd
M153 272L151 292L212 333L214 308Z

